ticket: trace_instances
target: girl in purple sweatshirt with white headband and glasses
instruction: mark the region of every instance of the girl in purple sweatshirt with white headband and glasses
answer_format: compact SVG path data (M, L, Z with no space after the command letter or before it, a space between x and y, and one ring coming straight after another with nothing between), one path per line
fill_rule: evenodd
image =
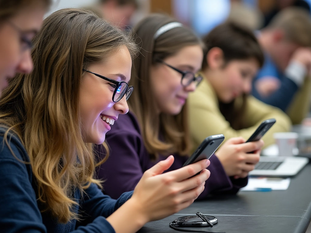
M135 91L129 99L130 112L119 116L107 133L110 156L97 171L104 180L104 192L114 198L134 189L144 171L171 154L175 161L167 171L182 167L191 150L187 97L202 80L197 71L201 69L203 45L190 29L168 16L154 14L143 19L134 32L141 49L132 67ZM236 193L246 185L245 177L258 162L262 144L221 147L216 154L226 155L226 163L212 155L211 178L200 198L211 193ZM97 150L105 152L102 146ZM234 171L230 177L224 165Z

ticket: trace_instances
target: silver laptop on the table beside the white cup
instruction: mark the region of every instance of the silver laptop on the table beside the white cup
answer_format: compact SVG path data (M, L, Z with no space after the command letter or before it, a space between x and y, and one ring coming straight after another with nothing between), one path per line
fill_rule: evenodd
M308 162L309 158L305 157L260 156L255 169L248 174L249 176L292 177Z

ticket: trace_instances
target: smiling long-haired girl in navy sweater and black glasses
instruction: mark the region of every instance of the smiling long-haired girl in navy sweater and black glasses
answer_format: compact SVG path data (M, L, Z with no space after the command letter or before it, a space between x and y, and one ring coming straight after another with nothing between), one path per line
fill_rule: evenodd
M161 174L168 157L118 200L93 176L93 144L128 112L132 38L87 11L62 9L33 43L33 71L13 77L0 99L1 232L134 233L188 207L204 189L208 160Z

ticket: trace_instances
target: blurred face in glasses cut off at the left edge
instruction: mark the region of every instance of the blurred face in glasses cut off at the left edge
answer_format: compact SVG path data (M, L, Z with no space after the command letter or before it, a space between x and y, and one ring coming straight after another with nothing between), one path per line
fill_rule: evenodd
M0 96L15 73L29 73L31 39L39 31L51 0L0 0Z

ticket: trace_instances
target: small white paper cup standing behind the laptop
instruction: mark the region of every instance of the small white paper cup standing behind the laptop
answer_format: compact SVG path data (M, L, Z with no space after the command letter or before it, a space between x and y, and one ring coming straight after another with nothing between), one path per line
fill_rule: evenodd
M293 156L293 150L297 147L298 133L280 132L274 133L273 137L279 148L279 156Z

